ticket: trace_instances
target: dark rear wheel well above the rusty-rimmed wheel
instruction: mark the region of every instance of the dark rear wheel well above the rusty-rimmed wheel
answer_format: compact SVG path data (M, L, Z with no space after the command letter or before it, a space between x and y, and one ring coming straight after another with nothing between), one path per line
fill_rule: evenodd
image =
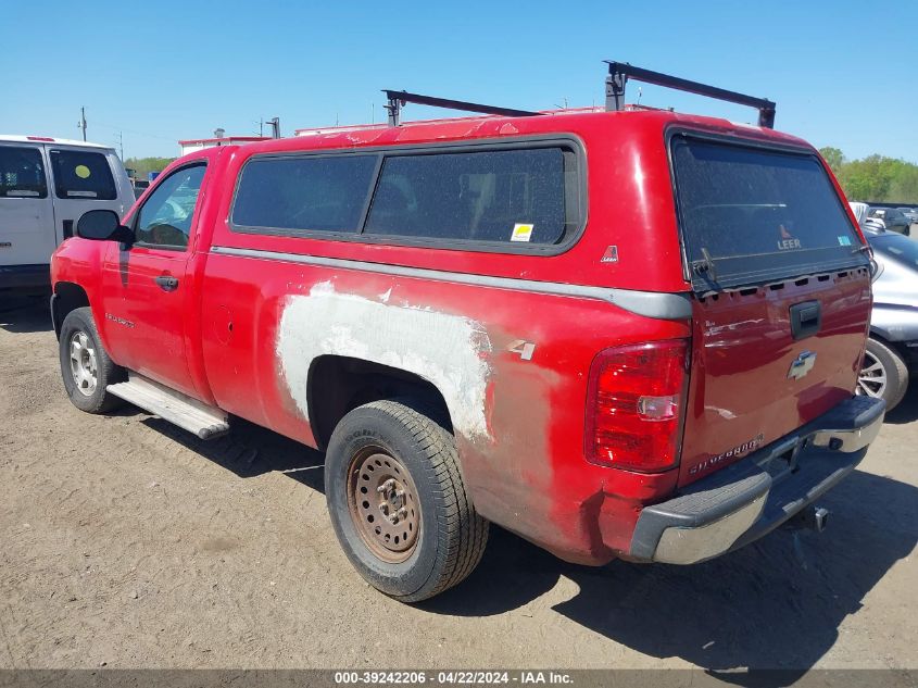
M357 406L380 399L410 398L452 431L440 390L419 375L349 356L323 355L310 366L310 423L319 449L328 446L338 422Z

